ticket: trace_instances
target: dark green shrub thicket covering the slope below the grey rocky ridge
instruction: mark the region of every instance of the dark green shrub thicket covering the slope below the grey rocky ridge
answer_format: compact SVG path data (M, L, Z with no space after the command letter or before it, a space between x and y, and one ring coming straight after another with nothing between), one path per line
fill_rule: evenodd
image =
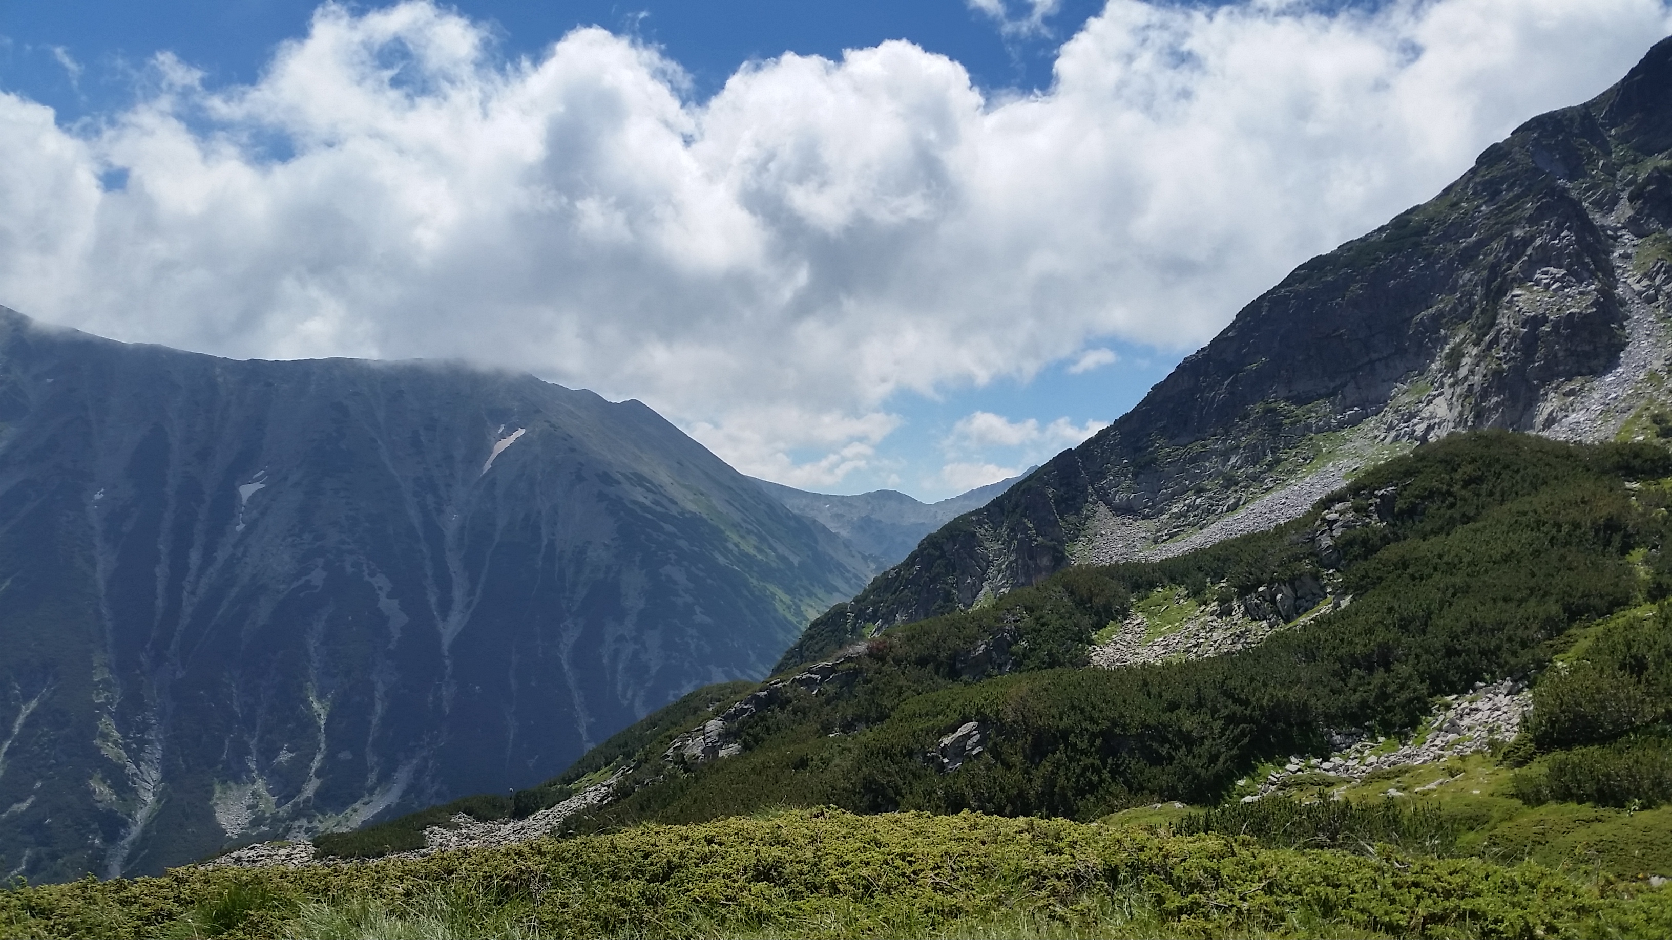
M1567 631L1667 594L1662 450L1476 433L1364 473L1343 498L1398 488L1391 515L1341 539L1318 513L1159 564L1068 569L997 604L891 629L843 662L846 682L788 692L737 728L742 754L635 759L637 789L579 831L699 821L762 806L978 810L1093 820L1162 800L1214 803L1279 754L1328 753L1326 731L1415 726L1433 696L1533 676ZM1635 488L1632 488L1635 487ZM1216 659L1080 669L1087 642L1160 585L1206 602L1313 575L1351 605ZM1008 674L970 674L1010 637ZM1659 692L1655 692L1659 694ZM985 753L955 773L925 754L968 721ZM1547 744L1548 746L1548 744Z

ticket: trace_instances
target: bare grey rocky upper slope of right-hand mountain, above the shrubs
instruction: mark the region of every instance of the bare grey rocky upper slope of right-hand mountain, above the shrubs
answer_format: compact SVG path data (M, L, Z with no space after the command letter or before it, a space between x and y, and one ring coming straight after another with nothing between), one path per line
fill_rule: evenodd
M1613 89L1528 120L1435 199L1296 268L1132 411L814 621L779 667L1073 562L1272 525L1453 430L1659 433L1669 227L1662 40Z

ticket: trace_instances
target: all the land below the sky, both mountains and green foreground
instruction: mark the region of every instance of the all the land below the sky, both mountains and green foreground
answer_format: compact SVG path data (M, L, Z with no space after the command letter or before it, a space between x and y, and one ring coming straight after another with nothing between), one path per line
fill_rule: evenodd
M0 845L201 858L20 935L1672 935L1672 38L874 577L637 403L0 351Z

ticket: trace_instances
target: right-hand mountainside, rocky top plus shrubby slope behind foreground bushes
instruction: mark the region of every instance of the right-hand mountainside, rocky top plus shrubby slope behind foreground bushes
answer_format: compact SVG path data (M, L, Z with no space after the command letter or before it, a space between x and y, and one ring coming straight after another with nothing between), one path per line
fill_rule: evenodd
M1134 411L818 617L771 682L694 692L522 805L226 863L777 805L1090 820L1304 786L1423 794L1440 766L1640 734L1649 756L1618 759L1652 778L1665 692L1562 738L1537 689L1583 631L1662 642L1669 167L1662 42L1302 264ZM1455 437L1471 428L1498 433ZM1662 681L1642 656L1632 681Z

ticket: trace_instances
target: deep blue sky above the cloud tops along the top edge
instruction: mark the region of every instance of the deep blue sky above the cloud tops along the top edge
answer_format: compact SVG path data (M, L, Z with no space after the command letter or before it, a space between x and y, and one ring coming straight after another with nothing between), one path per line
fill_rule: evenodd
M284 38L308 30L311 0L182 0L172 3L0 0L3 87L85 115L132 97L135 67L159 50L204 69L211 82L251 82ZM349 3L349 7L370 7ZM1050 85L1057 45L1102 5L1063 0L1042 32L1008 35L963 0L675 0L466 2L453 7L493 23L507 55L537 55L568 30L599 25L657 43L684 65L694 94L714 94L739 64L782 52L838 57L888 38L910 38L961 62L983 87ZM1013 3L1013 12L1022 13ZM84 72L72 77L57 50Z

